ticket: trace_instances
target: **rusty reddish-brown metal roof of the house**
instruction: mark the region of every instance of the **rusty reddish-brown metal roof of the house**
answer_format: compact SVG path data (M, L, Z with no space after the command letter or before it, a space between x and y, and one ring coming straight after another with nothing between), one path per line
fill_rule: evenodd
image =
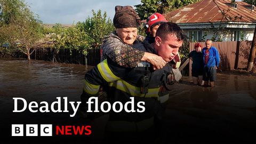
M165 13L168 21L175 23L209 23L209 22L256 22L256 10L245 2L234 4L227 0L202 0Z

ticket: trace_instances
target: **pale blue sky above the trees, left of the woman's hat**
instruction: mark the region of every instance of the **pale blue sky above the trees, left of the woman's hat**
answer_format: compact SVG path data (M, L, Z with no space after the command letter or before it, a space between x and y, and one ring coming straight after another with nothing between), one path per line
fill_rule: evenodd
M107 12L113 20L116 5L137 5L140 0L25 0L30 10L38 14L43 23L76 24L92 17L91 10Z

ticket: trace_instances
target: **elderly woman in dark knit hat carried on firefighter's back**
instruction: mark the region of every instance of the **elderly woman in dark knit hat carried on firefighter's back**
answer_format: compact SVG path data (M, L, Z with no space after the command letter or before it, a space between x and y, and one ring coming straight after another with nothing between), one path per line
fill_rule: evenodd
M142 42L145 37L137 35L141 22L132 6L116 6L115 12L113 23L116 31L103 39L101 61L109 57L119 66L133 68L143 60L150 62L154 69L163 68L166 62L162 57L133 49L132 45Z

